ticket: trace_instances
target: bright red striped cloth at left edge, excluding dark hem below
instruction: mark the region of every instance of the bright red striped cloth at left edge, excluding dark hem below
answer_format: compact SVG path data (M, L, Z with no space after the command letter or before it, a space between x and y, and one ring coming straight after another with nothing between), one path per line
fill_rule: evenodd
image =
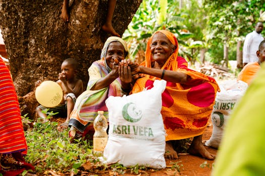
M0 153L27 149L18 98L10 72L0 59Z

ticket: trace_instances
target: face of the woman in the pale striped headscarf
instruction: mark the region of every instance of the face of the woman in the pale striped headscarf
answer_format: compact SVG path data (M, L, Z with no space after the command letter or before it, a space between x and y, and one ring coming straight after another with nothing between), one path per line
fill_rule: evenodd
M106 53L105 59L111 69L115 58L117 58L119 62L125 58L125 49L123 45L118 41L110 43Z

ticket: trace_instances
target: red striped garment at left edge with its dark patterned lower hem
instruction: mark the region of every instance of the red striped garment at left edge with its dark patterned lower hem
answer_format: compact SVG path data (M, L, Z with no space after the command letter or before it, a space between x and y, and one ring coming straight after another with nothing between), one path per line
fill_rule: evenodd
M3 175L17 175L24 169L34 169L34 167L26 163L21 155L23 151L24 154L27 153L27 144L20 108L10 72L2 58L0 58L0 97L0 172Z

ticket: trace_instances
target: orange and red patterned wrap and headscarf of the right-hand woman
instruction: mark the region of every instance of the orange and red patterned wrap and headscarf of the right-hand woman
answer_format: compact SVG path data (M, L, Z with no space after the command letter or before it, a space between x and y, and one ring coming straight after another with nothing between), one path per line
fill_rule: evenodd
M185 59L177 56L178 42L174 34L166 30L157 32L165 34L177 47L161 69L186 73L191 77L186 84L167 81L166 90L162 94L161 110L167 132L166 140L178 140L201 135L207 127L219 86L214 78L187 68ZM152 37L147 42L145 61L142 63L146 67L151 67L152 58L149 46ZM155 79L160 78L145 75L137 79L131 93L151 89Z

